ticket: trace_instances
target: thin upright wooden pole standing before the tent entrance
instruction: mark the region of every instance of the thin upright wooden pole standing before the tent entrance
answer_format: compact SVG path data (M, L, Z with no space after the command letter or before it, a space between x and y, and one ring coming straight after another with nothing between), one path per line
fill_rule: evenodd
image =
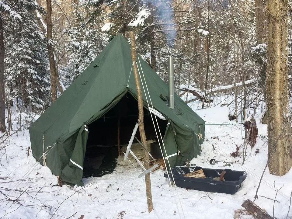
M144 148L147 148L147 140L145 136L144 130L144 114L143 114L143 99L142 99L142 91L140 87L140 80L138 76L138 68L136 64L136 42L135 42L135 33L134 31L130 31L130 40L131 40L131 56L133 61L133 73L136 83L137 89L137 99L138 99L138 110L139 110L139 131L140 137ZM144 154L144 166L146 169L149 169L149 154L148 151L145 151ZM146 184L146 198L148 211L151 212L153 210L153 202L152 202L152 194L151 194L151 181L150 181L150 173L145 175L145 184Z

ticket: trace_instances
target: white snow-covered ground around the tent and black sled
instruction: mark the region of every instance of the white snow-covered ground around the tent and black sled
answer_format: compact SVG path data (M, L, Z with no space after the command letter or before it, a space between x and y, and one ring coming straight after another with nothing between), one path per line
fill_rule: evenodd
M198 108L196 105L191 107ZM246 171L248 176L242 188L234 195L182 188L175 190L170 187L168 179L163 177L164 171L157 170L151 173L154 210L149 214L144 178L138 178L142 170L136 170L130 163L117 165L112 174L83 179L84 187L58 187L57 177L52 175L49 168L37 164L31 151L27 157L30 138L28 130L25 130L11 136L9 142L6 142L7 160L5 150L0 151L0 218L231 219L235 210L243 209L241 204L245 200L254 200L267 162L267 127L259 123L260 118L256 119L259 136L255 148L252 148L252 155L249 154L248 146L246 161L241 165L242 156L233 158L230 153L235 151L236 145L241 146L242 152L244 131L242 125L228 120L229 111L226 106L196 110L206 121L206 141L202 144L201 155L191 163L205 168ZM255 153L257 150L259 152ZM211 158L216 158L218 164L210 165ZM291 181L292 169L281 177L270 175L266 169L255 203L272 216L286 218L290 204ZM276 196L279 202L275 202L275 205L274 185L276 189L283 186ZM292 216L292 212L289 216ZM244 218L252 217L245 215Z

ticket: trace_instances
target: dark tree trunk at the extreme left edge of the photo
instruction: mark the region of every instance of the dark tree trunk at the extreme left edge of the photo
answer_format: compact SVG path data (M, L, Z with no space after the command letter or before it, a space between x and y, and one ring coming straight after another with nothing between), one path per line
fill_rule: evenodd
M3 18L0 14L0 131L5 132L5 77L4 77Z

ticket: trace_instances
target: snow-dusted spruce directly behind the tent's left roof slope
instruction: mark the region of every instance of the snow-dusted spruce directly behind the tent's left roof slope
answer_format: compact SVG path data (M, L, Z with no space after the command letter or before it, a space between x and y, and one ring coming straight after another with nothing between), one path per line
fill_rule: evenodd
M62 81L66 87L87 68L104 48L101 23L101 8L94 1L85 0L80 5L74 3L75 16L71 29L64 30L68 35L68 65L62 69ZM96 3L97 4L97 3Z

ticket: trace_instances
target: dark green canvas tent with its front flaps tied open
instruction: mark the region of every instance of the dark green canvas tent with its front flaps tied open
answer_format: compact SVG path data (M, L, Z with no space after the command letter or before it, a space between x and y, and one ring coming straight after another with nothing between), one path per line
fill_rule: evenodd
M205 122L178 96L175 96L175 109L170 109L167 101L161 98L168 96L168 85L141 57L140 61L141 67L138 66L140 71L143 70L152 107L167 119L163 140L169 162L172 167L182 165L201 151L202 139L196 134L201 133L204 137ZM88 126L109 112L126 94L137 99L131 66L130 45L118 34L30 126L33 156L39 159L47 151L47 166L63 181L83 185L83 162L91 132ZM144 92L143 101L147 109ZM130 125L134 128L135 124ZM95 127L95 131L102 129Z

